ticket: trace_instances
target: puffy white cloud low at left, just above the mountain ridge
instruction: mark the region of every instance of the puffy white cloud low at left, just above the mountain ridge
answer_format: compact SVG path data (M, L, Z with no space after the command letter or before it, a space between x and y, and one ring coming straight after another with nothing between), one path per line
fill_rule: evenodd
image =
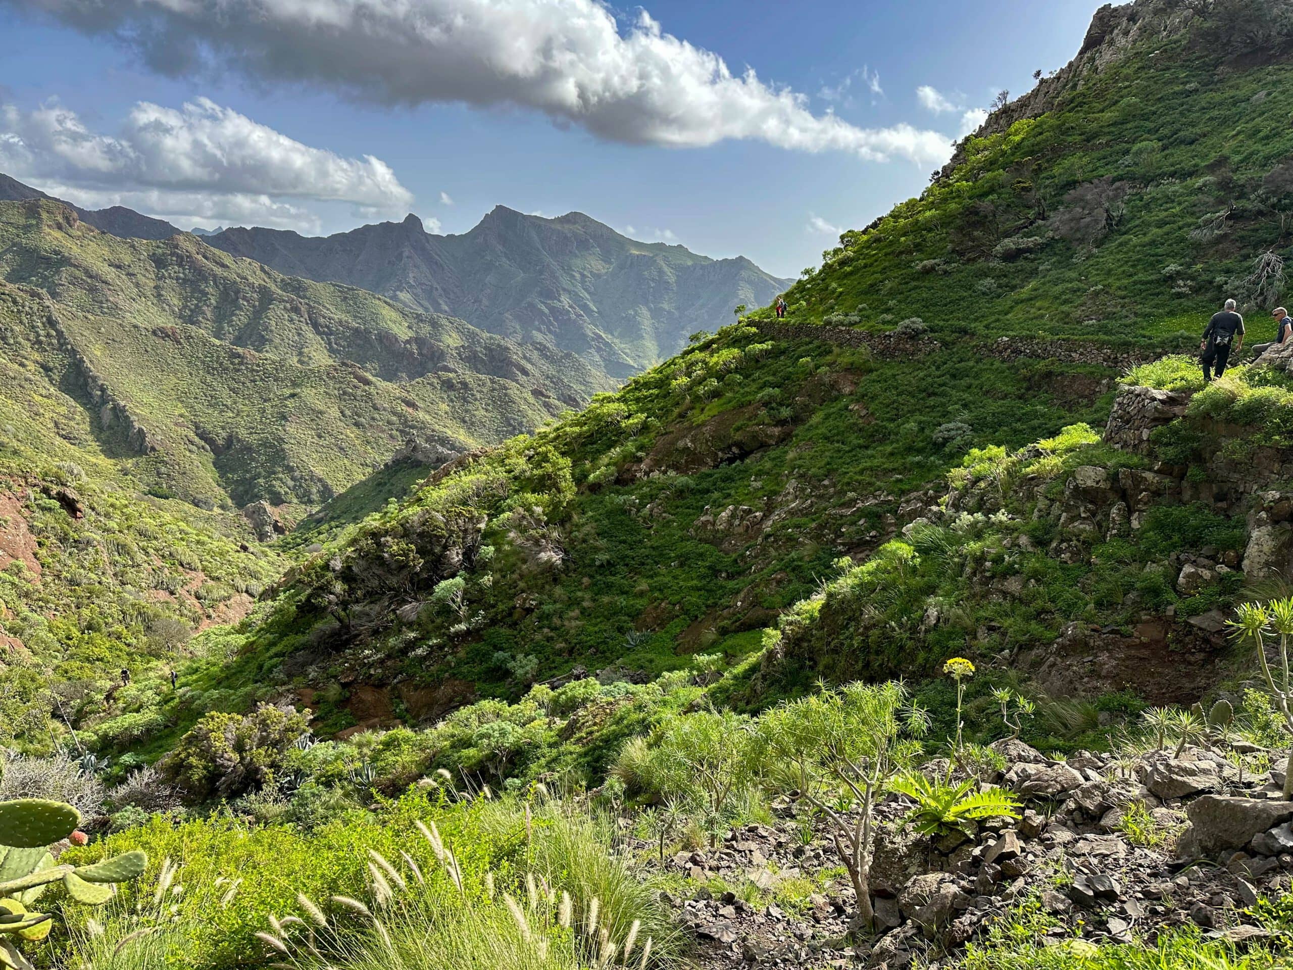
M58 102L0 105L0 171L87 208L303 229L318 219L300 200L352 203L365 215L406 212L412 202L380 159L303 145L208 98L180 109L142 101L114 135Z

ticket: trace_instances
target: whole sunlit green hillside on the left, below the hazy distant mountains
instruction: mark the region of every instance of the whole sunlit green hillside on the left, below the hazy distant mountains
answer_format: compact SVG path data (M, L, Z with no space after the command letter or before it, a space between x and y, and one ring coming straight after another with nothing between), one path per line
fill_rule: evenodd
M106 710L123 669L164 680L194 632L247 616L287 560L243 507L291 524L410 441L449 457L605 385L566 354L190 235L0 202L0 735L48 738Z

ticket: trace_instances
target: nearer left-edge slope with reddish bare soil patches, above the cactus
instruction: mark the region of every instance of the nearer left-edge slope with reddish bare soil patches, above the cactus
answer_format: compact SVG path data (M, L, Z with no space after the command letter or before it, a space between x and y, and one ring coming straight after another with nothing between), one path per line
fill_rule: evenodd
M70 711L101 710L123 669L175 665L193 631L238 622L284 565L240 516L142 494L81 389L50 379L66 352L36 357L23 343L45 331L49 313L39 291L0 283L5 744L44 745L50 722L62 729ZM156 700L134 696L147 698ZM138 737L146 719L136 722L111 742Z

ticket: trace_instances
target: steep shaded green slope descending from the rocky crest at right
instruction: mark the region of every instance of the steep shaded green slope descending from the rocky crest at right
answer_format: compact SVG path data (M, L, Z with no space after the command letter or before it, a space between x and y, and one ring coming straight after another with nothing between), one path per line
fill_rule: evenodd
M919 199L847 233L793 287L789 325L758 310L582 415L436 472L294 572L222 683L273 696L274 676L348 667L350 691L319 701L337 726L392 717L374 701L392 687L419 717L697 651L763 649L749 702L818 675L921 675L949 651L1023 662L1073 623L1143 630L1146 671L1181 636L1213 658L1223 638L1181 623L1228 603L1239 573L1199 586L1174 570L1243 547L1243 506L1166 486L1120 499L1111 475L1157 482L1170 459L1098 440L1127 367L1188 348L1223 296L1259 313L1283 290L1293 31L1254 41L1230 13L1258 8L1290 22L1285 1L1127 8L1140 32L1087 47L1042 114L989 119ZM965 520L934 511L1016 473L1040 490ZM1113 528L1118 501L1134 515Z

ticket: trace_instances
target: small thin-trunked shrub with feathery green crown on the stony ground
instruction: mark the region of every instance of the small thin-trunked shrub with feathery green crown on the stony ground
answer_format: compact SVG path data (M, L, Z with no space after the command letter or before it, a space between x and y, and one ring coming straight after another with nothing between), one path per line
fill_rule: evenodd
M908 706L900 683L847 684L790 701L760 718L768 753L790 768L795 797L820 812L830 826L839 860L857 896L857 914L870 927L870 872L875 852L875 806L890 780L909 768L921 751L910 740L924 733L924 711ZM840 811L847 794L856 815Z

